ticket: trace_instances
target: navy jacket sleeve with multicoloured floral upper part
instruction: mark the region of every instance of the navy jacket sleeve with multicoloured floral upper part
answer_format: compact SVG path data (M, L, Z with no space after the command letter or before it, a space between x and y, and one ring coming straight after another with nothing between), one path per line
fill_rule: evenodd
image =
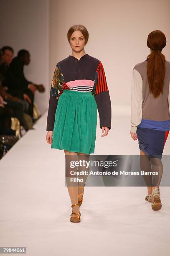
M57 108L57 104L58 104L58 94L60 92L58 90L57 85L61 84L59 74L60 74L59 68L58 68L58 65L56 65L56 68L55 68L54 74L53 74L53 80L51 82L46 131L53 131L53 128L54 128L56 108Z

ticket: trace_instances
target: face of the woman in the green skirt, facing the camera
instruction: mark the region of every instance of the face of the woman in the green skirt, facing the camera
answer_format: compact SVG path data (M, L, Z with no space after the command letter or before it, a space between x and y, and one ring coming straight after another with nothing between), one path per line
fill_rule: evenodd
M80 52L84 49L85 39L81 31L74 31L72 33L70 38L70 46L76 52Z

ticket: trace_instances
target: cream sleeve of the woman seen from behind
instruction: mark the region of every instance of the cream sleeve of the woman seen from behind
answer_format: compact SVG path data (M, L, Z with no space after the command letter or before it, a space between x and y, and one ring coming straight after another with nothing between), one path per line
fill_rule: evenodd
M133 69L131 84L131 133L136 133L137 125L142 121L142 77Z

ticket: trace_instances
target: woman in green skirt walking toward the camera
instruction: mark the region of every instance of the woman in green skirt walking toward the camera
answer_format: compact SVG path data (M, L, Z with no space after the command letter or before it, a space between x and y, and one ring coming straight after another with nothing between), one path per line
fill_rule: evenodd
M72 54L56 64L46 140L51 148L64 150L69 170L71 159L88 161L89 154L94 153L97 110L104 133L101 137L107 136L111 129L111 102L101 61L84 51L89 38L87 29L82 25L71 26L67 38ZM79 170L82 168L74 169ZM81 184L79 181L72 186L67 183L72 204L71 222L80 222L79 207L83 201L85 178Z

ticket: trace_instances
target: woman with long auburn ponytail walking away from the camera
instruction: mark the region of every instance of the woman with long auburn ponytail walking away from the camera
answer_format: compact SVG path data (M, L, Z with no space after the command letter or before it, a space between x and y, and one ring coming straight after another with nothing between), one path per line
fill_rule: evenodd
M132 73L130 133L139 142L141 169L152 172L144 176L148 190L145 200L152 202L153 210L160 210L161 159L170 130L170 61L162 54L166 37L161 31L148 35L147 46L151 53Z

